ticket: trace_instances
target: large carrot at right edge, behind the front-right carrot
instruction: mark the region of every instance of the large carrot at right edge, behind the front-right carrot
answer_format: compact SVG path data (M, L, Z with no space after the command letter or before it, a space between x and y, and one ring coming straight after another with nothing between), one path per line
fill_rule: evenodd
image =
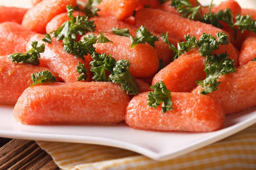
M218 90L207 96L215 99L223 108L226 114L256 106L256 62L237 68L237 71L224 76L219 80ZM200 94L201 86L198 86L192 93Z

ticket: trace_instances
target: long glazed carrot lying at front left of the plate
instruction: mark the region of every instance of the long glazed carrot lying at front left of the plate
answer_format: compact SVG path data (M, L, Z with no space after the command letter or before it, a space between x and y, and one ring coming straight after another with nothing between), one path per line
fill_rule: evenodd
M13 113L23 124L112 124L124 120L129 101L111 82L51 83L27 88Z

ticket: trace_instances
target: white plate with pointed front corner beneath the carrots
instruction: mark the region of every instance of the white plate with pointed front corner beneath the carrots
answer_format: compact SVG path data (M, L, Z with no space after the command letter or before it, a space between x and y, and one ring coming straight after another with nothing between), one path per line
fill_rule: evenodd
M256 123L256 108L227 115L223 129L210 133L154 132L118 125L21 125L12 106L0 105L0 137L120 147L165 161L189 153Z

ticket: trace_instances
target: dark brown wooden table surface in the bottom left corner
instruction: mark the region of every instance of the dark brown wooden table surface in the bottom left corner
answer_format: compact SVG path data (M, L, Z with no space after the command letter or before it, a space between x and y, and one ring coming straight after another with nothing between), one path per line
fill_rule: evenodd
M60 170L35 141L0 138L0 170Z

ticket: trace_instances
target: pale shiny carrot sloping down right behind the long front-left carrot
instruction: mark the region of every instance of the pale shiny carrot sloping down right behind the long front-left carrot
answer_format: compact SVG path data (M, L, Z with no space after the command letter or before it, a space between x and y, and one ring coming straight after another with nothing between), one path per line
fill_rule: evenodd
M85 60L80 57L75 58L73 54L68 54L63 51L63 44L61 42L52 39L52 44L43 42L42 39L45 36L42 34L36 34L30 39L29 42L38 41L38 44L44 43L45 50L41 53L40 66L50 68L55 71L64 82L77 82L80 74L76 71L78 62L84 64L87 71L86 82L92 81L90 74L90 60L91 57L84 56ZM27 49L30 49L30 43L27 45ZM83 81L83 80L81 80Z

